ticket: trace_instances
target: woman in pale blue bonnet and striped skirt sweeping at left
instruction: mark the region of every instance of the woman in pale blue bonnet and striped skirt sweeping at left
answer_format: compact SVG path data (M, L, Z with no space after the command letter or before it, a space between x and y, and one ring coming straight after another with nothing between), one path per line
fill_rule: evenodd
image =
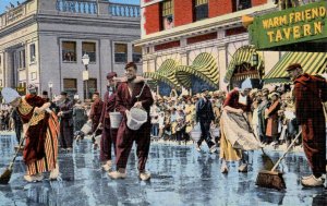
M5 102L16 108L24 124L23 160L27 167L24 179L27 182L41 181L43 173L48 171L50 180L59 178L59 123L57 116L48 109L50 102L33 93L21 97L16 90L9 87L3 88L1 93Z

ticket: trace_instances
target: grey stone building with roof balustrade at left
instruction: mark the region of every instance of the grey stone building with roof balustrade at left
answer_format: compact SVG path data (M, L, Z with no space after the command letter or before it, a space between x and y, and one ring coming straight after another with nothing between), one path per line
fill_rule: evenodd
M0 16L0 87L28 84L81 99L106 92L106 74L120 76L135 61L142 73L140 7L97 0L27 0ZM83 81L82 56L89 57L89 80ZM86 86L87 85L87 86Z

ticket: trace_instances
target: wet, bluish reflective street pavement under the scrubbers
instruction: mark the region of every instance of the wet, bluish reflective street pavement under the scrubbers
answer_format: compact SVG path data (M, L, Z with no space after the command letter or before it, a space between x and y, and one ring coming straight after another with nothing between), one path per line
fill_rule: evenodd
M60 153L62 182L45 179L38 183L23 180L25 167L22 157L14 165L10 184L0 185L0 205L327 205L325 189L302 189L299 178L310 173L302 153L292 153L281 163L287 183L284 192L261 189L255 185L263 168L259 152L250 153L250 171L239 173L238 165L230 165L228 174L220 173L217 154L208 154L203 146L197 153L192 145L178 146L154 143L147 169L149 182L137 178L135 149L132 150L128 178L110 180L100 170L99 152L89 141L75 143L72 153ZM0 172L13 154L10 136L0 136ZM274 161L280 153L270 152ZM47 178L47 177L46 177Z

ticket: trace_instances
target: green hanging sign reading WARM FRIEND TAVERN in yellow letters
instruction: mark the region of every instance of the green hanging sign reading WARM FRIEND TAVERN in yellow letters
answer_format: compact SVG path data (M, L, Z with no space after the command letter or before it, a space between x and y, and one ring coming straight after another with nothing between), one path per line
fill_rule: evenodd
M258 50L326 52L326 1L257 16L249 26Z

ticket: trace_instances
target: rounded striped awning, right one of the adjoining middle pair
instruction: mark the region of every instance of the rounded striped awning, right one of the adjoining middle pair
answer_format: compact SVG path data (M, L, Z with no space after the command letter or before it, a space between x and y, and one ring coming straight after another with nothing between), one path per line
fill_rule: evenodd
M177 80L186 88L191 88L191 75L195 75L215 88L219 85L218 65L210 53L199 53L193 61L192 65L179 65L177 68ZM189 78L186 78L189 76Z

